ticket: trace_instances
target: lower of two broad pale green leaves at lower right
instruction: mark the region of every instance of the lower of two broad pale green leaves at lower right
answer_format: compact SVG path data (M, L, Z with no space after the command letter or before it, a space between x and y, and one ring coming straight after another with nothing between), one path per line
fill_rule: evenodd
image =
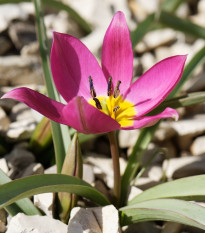
M120 209L122 225L136 222L165 220L179 222L205 230L205 208L175 199L156 199Z

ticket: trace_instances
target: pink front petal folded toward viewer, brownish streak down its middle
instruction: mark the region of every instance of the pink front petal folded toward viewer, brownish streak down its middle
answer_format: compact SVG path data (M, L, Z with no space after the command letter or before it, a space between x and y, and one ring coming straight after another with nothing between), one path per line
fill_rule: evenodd
M63 114L68 118L68 125L84 134L106 133L120 128L117 121L79 96L68 103Z

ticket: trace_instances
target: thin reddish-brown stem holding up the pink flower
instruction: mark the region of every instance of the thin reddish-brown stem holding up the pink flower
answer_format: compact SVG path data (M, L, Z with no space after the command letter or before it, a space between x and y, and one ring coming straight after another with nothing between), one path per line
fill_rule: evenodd
M118 150L118 144L117 144L115 132L113 131L108 133L108 138L110 141L110 151L112 155L113 172L114 172L114 188L113 188L114 203L116 207L118 207L120 200L120 192L121 192L121 177L120 177L119 150Z

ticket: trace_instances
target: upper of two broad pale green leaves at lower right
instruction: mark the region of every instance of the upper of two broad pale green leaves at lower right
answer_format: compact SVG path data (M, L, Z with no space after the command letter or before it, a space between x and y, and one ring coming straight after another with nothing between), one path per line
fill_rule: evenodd
M137 202L159 198L177 198L184 200L205 199L205 175L191 176L147 189L129 201L129 205Z

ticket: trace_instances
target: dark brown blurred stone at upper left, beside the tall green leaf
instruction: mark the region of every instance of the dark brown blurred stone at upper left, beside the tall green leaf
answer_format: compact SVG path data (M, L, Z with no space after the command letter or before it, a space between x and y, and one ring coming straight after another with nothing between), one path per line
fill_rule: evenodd
M18 50L24 45L36 41L35 26L31 23L13 22L9 26L8 32L13 44Z

